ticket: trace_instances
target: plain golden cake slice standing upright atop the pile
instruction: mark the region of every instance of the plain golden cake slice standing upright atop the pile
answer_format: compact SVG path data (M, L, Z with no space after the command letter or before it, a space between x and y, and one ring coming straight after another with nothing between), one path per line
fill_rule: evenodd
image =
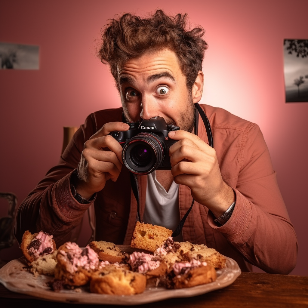
M131 247L155 252L172 235L165 227L144 224L137 221L132 236Z

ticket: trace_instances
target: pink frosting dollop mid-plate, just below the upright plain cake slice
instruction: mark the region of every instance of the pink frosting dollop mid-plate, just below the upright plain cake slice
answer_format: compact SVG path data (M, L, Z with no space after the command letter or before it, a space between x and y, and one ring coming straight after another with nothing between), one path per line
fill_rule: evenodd
M153 260L154 256L149 253L134 251L129 257L132 270L145 274L149 270L155 270L160 266L160 261Z

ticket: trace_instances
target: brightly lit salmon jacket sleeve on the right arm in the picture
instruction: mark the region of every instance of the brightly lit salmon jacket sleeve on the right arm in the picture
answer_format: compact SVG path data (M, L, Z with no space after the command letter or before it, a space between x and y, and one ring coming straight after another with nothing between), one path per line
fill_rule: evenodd
M233 188L236 205L232 216L218 226L209 211L209 225L251 264L268 273L289 274L296 265L297 237L257 125L245 136L239 157L242 164Z

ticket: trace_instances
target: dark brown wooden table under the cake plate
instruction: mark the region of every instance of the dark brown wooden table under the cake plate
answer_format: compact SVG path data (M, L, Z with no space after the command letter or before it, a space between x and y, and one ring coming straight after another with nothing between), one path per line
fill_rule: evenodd
M13 293L0 284L0 307L72 307L73 304L45 302ZM81 305L78 305L81 307ZM103 306L102 307L119 307ZM124 307L124 306L121 306ZM125 306L129 307L129 306ZM132 306L131 306L132 307ZM308 307L308 277L242 273L230 286L191 298L174 298L134 307L148 308L240 308Z

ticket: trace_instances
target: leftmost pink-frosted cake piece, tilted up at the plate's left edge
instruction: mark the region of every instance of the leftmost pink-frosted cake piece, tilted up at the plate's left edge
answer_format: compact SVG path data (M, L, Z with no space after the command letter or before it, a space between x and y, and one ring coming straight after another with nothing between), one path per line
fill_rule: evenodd
M31 263L39 257L54 253L57 248L52 237L43 231L31 234L27 230L22 236L20 245L26 260Z

